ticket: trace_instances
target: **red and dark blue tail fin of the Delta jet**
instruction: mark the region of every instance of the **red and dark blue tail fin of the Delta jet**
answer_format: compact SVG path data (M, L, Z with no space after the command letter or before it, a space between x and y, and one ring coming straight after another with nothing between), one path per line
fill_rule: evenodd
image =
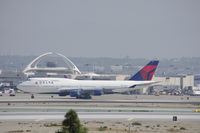
M139 72L137 72L129 80L136 80L136 81L151 80L156 71L158 63L159 63L158 60L150 61L146 66L144 66Z

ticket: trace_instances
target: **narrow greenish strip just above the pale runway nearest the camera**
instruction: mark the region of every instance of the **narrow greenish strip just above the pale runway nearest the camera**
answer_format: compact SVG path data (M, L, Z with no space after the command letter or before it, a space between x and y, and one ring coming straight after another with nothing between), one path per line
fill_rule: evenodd
M17 111L60 111L74 109L78 112L187 112L192 113L196 108L156 108L156 107L77 107L77 106L0 106L2 112Z

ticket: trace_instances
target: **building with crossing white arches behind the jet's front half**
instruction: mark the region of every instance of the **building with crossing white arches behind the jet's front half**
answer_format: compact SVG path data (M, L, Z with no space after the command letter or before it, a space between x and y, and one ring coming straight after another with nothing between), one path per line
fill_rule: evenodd
M35 58L24 69L28 77L63 76L81 74L76 65L59 53L45 53Z

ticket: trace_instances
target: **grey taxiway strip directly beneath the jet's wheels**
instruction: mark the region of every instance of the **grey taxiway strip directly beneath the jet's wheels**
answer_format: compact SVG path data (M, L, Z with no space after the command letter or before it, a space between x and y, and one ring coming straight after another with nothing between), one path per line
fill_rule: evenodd
M3 95L0 103L135 103L135 104L200 104L200 97L194 96L153 96L153 95L102 95L93 96L92 99L76 99L69 96L17 94L15 97Z

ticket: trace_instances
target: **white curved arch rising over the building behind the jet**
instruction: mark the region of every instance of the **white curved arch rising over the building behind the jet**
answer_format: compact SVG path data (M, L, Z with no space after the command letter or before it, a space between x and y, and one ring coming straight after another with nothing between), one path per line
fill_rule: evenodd
M26 66L26 68L23 70L23 73L37 69L38 68L37 64L42 60L42 58L44 58L45 56L48 56L48 55L57 55L57 56L61 57L63 59L63 61L71 67L74 74L81 74L80 70L76 67L76 65L70 59L68 59L67 57L65 57L62 54L53 53L53 52L48 52L48 53L42 54L42 55L38 56L37 58L35 58L33 61L31 61L31 63L29 63Z

